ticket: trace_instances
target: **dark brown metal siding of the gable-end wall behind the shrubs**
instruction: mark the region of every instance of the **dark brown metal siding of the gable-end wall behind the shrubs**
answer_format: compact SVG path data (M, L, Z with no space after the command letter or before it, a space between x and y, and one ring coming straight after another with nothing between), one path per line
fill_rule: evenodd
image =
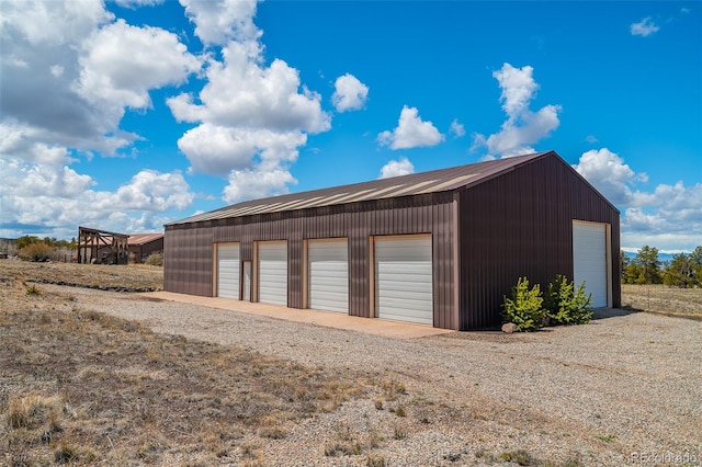
M612 298L621 305L619 213L556 157L545 157L460 193L461 329L500 322L520 276L547 284L573 278L573 219L612 232Z

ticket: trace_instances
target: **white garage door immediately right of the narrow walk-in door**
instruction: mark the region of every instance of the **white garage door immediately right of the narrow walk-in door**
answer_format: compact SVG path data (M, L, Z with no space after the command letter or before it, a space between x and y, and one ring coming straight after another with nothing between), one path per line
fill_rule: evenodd
M259 301L287 306L287 243L259 243Z

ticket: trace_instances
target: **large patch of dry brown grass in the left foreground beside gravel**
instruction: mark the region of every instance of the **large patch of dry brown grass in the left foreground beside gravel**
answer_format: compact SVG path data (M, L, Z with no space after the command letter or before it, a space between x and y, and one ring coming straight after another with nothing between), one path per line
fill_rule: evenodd
M8 263L0 270L1 465L256 465L257 445L366 391L359 375L76 308L70 295L23 282L52 265L24 263L26 274L13 277Z

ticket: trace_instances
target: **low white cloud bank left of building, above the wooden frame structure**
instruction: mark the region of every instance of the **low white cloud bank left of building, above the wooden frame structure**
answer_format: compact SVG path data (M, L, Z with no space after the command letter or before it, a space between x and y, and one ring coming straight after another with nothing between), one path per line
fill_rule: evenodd
M58 237L75 236L79 225L124 232L162 230L162 214L184 209L194 198L179 172L144 170L115 192L93 190L97 183L90 175L61 164L58 158L53 163L34 162L2 153L0 172L0 235L7 237L26 234L22 226L43 226Z

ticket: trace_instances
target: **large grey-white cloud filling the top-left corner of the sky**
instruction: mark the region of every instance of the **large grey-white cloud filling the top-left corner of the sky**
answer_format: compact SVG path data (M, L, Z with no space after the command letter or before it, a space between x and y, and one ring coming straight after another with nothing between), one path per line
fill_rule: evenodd
M176 35L113 22L99 0L3 1L2 10L0 123L36 143L113 155L138 138L120 128L125 107L148 107L150 90L200 67Z

